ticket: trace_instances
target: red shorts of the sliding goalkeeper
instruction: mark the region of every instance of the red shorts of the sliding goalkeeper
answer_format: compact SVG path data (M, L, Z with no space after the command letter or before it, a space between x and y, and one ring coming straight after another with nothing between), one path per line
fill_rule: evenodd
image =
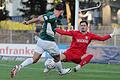
M80 63L83 56L80 51L74 49L68 49L64 52L64 55L66 56L66 62L74 62L76 64Z

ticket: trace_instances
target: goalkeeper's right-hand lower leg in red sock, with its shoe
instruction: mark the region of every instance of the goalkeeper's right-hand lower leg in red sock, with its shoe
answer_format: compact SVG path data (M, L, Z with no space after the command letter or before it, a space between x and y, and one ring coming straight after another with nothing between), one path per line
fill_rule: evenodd
M90 60L93 58L92 54L85 54L81 57L80 63L74 68L74 72L78 71L84 65L88 64Z

